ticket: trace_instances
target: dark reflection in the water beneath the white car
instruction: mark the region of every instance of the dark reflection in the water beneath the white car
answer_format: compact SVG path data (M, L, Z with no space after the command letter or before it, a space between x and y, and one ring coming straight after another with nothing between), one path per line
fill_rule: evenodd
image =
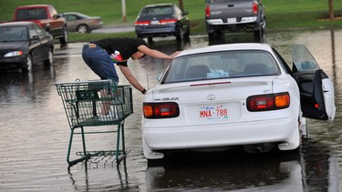
M328 147L307 140L300 153L174 155L147 168L147 191L338 191L337 158L329 154Z

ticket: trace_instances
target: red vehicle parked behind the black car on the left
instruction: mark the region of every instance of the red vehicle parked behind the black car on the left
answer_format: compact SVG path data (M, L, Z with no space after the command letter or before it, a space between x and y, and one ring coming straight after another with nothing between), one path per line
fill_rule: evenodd
M67 21L57 14L53 5L18 6L13 16L14 21L31 21L41 25L50 35L67 44Z

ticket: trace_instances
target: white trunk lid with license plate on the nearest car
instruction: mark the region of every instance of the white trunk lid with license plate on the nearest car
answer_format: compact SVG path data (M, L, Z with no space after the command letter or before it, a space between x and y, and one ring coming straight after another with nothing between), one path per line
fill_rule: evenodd
M233 121L246 117L248 96L273 92L274 79L259 76L161 85L153 89L153 100L178 103L179 117L189 123Z

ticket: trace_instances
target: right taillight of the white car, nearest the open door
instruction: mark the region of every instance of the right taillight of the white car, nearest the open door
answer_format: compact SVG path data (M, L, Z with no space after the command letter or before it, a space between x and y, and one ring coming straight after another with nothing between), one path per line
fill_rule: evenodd
M249 96L247 98L248 111L268 111L287 108L290 106L290 95L285 93Z

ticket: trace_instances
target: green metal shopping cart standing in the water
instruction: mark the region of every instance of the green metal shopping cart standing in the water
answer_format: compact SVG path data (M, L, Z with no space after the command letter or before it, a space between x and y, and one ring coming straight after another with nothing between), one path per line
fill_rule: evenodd
M56 84L57 93L62 98L71 129L67 148L67 163L77 164L80 161L94 156L115 157L119 163L126 158L124 138L124 120L133 113L132 94L130 86L117 86L111 80L76 81L73 83ZM109 108L109 115L102 111ZM110 126L117 125L117 126ZM85 128L87 126L87 128ZM93 128L90 128L90 127ZM98 126L109 126L106 129L95 129ZM115 149L87 150L87 134L115 133ZM82 147L76 152L74 160L70 160L70 151L73 146L74 135L81 136ZM115 139L114 139L115 140Z

